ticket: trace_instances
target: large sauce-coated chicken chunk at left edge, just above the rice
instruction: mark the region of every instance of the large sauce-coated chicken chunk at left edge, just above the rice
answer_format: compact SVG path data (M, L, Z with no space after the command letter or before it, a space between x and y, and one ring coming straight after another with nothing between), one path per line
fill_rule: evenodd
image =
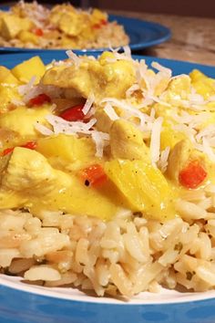
M65 188L69 176L53 169L46 158L37 151L16 147L2 173L2 187L15 192L29 191L31 195Z

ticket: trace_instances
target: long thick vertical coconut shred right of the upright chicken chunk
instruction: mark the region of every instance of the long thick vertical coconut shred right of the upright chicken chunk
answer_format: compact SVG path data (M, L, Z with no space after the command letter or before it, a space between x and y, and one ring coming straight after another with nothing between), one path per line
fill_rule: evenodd
M163 119L159 117L152 125L151 141L150 141L150 154L152 164L155 166L159 162L159 146L160 146L160 132L162 128Z

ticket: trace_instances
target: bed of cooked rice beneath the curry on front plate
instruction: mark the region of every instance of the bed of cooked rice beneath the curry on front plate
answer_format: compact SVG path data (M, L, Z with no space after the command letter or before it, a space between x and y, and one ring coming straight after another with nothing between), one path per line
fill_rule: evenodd
M211 289L215 286L215 210L209 186L195 198L190 193L187 200L180 200L181 217L163 224L128 211L105 223L60 212L36 216L3 210L2 272L40 284L44 280L46 287L94 289L98 296L132 297L177 285L195 291Z

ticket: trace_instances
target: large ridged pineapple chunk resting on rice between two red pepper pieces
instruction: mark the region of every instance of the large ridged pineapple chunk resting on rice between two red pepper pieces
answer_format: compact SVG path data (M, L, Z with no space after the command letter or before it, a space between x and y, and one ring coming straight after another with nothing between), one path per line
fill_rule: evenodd
M165 221L175 216L173 192L158 169L142 161L106 162L105 172L128 200L133 211Z

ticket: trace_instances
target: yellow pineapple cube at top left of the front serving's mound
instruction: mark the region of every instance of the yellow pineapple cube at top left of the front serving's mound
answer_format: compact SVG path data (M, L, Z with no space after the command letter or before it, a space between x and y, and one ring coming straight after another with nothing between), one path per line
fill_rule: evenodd
M11 69L15 78L18 78L21 82L27 83L35 76L36 83L39 82L40 78L45 74L46 67L40 57L35 56Z

